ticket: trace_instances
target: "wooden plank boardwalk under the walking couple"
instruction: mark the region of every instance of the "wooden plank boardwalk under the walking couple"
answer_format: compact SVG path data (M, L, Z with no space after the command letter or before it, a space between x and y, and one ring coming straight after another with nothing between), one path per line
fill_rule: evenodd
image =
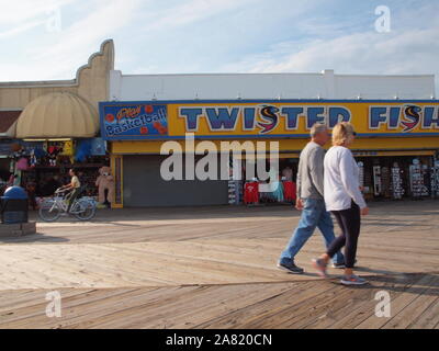
M436 328L439 201L375 203L364 218L360 275L345 287L275 261L297 223L288 206L103 211L93 223L38 224L0 240L0 328ZM63 316L45 315L58 291ZM376 292L391 317L376 317Z

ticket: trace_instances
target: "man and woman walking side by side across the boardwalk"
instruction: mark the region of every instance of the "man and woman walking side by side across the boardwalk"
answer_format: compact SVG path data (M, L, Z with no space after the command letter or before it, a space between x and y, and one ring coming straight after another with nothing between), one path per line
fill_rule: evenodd
M345 269L341 283L361 285L368 283L353 274L357 244L360 235L361 215L368 215L359 184L359 169L349 146L356 138L352 124L341 122L333 129L333 147L326 152L323 146L330 139L326 125L315 124L311 129L311 141L302 150L297 171L296 208L302 211L297 228L294 230L278 267L290 273L301 274L294 258L306 240L318 228L325 239L326 252L313 260L317 273L326 278L327 265L333 259L333 268ZM330 213L341 229L337 238ZM340 249L345 247L345 256Z

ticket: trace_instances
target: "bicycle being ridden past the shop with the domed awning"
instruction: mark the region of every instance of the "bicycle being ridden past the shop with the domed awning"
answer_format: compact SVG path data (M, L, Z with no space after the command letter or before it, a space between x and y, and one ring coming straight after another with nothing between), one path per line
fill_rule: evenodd
M46 199L40 205L38 216L44 222L55 222L63 213L67 213L68 203L65 200L66 190L57 189L53 199ZM71 204L68 214L75 215L79 220L90 220L97 211L95 201L90 197L79 197Z

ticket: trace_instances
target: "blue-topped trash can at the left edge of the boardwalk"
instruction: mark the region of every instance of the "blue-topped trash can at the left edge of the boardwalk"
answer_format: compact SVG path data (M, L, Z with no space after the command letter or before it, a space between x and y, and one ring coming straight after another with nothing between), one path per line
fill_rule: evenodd
M0 197L1 223L27 223L27 193L23 188L10 186Z

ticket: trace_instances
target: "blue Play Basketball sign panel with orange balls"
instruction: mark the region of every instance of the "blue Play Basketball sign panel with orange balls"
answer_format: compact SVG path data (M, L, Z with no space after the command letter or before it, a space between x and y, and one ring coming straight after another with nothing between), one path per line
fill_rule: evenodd
M151 102L101 102L101 134L105 140L168 136L168 109Z

